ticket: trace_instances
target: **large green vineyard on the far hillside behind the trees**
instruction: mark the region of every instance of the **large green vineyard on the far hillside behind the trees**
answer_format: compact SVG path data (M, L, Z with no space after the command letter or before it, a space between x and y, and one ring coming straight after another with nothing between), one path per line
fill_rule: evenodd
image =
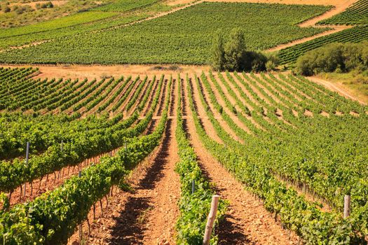
M3 63L34 64L206 64L213 32L245 31L247 47L272 48L325 29L297 23L328 10L326 6L261 3L199 3L162 18L88 36L70 36L0 54Z

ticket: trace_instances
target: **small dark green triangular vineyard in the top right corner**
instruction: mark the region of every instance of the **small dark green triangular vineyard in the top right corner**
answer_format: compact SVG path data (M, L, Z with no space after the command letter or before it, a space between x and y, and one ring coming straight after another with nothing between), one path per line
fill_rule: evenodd
M368 0L359 0L350 8L327 20L318 22L320 25L368 25Z

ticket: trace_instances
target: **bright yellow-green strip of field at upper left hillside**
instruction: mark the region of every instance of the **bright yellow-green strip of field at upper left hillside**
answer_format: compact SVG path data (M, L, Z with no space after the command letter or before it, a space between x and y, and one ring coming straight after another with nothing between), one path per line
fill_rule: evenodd
M108 8L110 4L105 5L104 8ZM34 25L3 29L0 33L0 50L126 25L130 22L147 18L154 13L170 10L169 6L158 8L158 6L161 6L159 4L140 6L139 9L144 8L142 11L137 10L137 6L127 7L125 11L105 11L94 8L86 12L76 13L55 20L48 20ZM135 8L134 12L130 11L132 8Z

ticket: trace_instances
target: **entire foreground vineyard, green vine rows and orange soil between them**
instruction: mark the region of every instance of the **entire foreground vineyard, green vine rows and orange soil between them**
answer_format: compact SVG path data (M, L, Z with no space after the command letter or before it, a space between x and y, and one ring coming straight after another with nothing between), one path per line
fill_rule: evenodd
M368 235L367 106L286 73L37 74L0 69L5 243L201 243L214 193L219 242Z

